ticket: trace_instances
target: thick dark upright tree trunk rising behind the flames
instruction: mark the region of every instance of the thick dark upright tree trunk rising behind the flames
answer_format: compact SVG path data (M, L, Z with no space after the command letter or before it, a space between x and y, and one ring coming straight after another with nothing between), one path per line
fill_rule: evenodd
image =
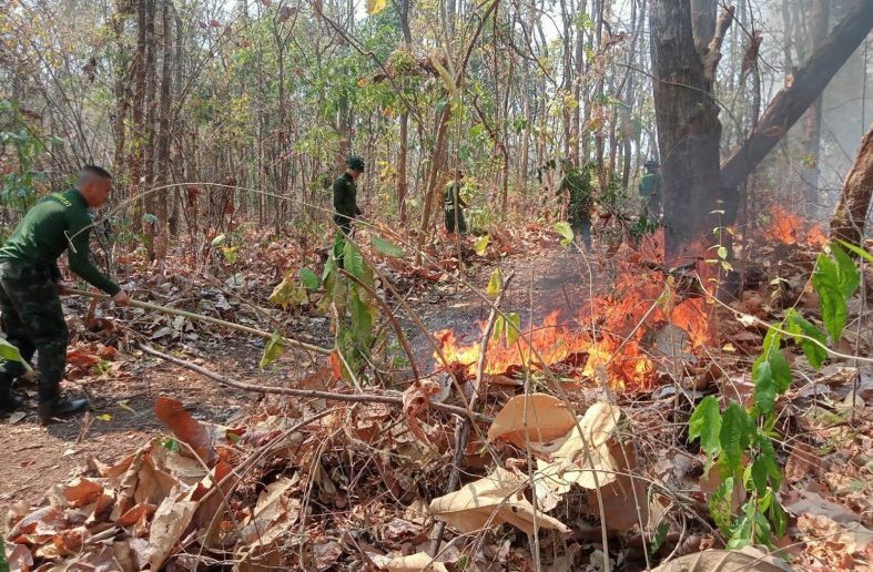
M718 222L711 212L723 196L721 122L712 81L696 49L690 1L654 0L650 21L666 258L672 261L702 254L697 243Z

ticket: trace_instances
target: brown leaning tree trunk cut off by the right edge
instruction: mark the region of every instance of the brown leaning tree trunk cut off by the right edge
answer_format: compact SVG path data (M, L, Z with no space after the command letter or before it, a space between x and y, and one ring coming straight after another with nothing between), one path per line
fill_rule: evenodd
M831 221L831 237L861 244L873 197L873 125L871 125L852 170L845 178L840 202Z

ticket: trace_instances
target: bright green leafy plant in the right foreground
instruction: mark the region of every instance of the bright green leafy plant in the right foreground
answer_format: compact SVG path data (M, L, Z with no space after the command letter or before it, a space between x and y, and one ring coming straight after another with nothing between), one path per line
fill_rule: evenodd
M709 396L697 406L689 421L689 437L700 440L707 454L705 470L714 466L721 477L721 484L710 499L710 513L728 538L729 550L750 543L772 548L773 535L785 533L788 517L776 499L782 471L773 445L775 401L791 386L791 368L782 355L782 343L786 338L793 340L809 364L819 369L828 358L828 338L831 346L840 343L847 300L857 290L860 273L845 251L832 244L830 253L819 255L812 284L828 334L795 308L790 309L782 327L769 328L763 350L752 366L752 406L747 409L731 401L721 411L718 398ZM733 494L740 487L748 500L740 513L733 514Z

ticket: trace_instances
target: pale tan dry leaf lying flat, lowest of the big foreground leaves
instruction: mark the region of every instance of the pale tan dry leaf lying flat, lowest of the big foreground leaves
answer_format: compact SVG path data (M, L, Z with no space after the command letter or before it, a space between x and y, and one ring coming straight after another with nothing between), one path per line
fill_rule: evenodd
M527 478L498 468L491 474L464 486L459 491L434 499L429 507L430 514L461 532L473 532L506 522L532 534L535 518L540 529L568 532L569 529L561 521L541 511L536 511L535 514L534 505L521 493L526 486Z

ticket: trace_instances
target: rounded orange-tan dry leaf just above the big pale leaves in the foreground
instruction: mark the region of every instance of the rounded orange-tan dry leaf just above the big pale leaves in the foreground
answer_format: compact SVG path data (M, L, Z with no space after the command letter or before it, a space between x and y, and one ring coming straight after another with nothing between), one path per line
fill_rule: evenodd
M488 440L509 441L534 449L567 435L576 416L560 399L547 394L520 395L510 399L488 429Z

